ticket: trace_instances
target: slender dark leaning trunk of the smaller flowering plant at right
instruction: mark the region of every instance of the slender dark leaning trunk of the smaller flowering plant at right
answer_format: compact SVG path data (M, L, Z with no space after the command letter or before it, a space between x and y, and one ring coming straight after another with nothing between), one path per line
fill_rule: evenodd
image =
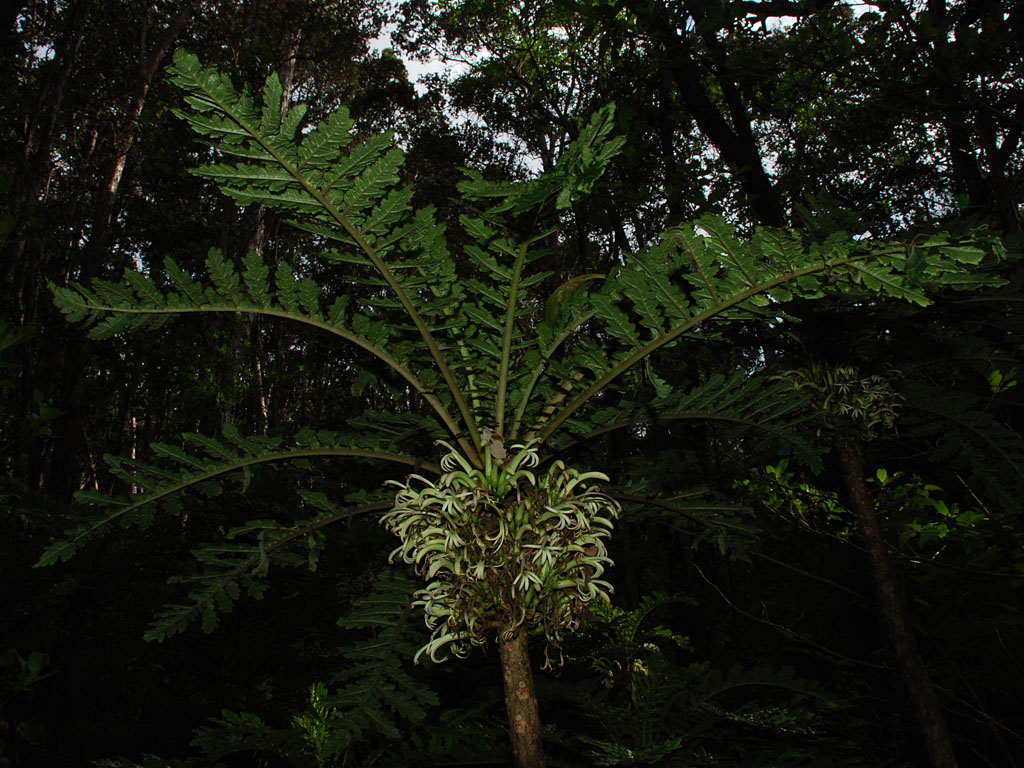
M913 707L914 717L925 737L930 764L932 768L956 768L956 756L953 753L946 721L939 708L928 667L918 648L910 612L893 570L889 549L882 535L882 525L879 523L878 515L874 514L874 505L868 496L858 441L851 427L840 427L836 435L836 449L842 464L847 493L850 495L853 511L866 545L879 607L882 609L882 616L896 663L899 665L900 675Z

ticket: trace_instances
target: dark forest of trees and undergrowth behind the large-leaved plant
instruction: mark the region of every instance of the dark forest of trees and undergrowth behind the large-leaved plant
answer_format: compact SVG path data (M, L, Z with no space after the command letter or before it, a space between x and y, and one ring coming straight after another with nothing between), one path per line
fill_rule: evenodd
M393 542L375 515L326 532L315 569L271 571L262 599L240 601L214 632L143 640L179 599L168 579L189 571L208 531L289 503L287 470L255 473L256 493L186 505L34 567L74 524L76 492L118 488L105 455L142 456L225 425L334 428L374 398L389 407L352 376L344 349L286 326L218 315L90 341L54 307L48 282L116 278L168 257L200 271L211 247L280 259L301 247L276 214L240 208L188 173L209 151L173 114L181 96L164 68L178 47L240 85L278 73L310 121L344 104L360 132L393 129L417 204L443 221L459 214L462 167L496 180L551 169L614 101L627 141L600 188L571 208L555 259L565 279L708 213L744 232L845 230L908 248L939 229L999 237L1007 257L987 267L1006 282L997 289L929 307L797 303L792 322L688 346L666 376L830 366L889 382L895 424L864 442L860 474L908 606L904 636L881 617L877 561L824 422L792 427L816 446L799 461L652 416L590 455L678 503L627 510L612 543L614 606L595 609L565 665L538 685L551 765L922 766L928 738L897 662L910 641L958 764L1024 763L1024 5L4 7L0 766L509 760L493 649L410 664L436 706L329 743L344 713L311 686L351 678L353 648L373 632L359 621L368 595L415 588L381 575ZM380 50L385 31L392 47ZM417 85L403 63L438 59L458 74ZM302 471L339 487L385 479L328 463Z

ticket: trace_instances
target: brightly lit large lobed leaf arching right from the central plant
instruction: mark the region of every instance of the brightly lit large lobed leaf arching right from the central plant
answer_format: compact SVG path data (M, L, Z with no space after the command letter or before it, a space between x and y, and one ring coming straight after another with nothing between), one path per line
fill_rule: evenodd
M763 229L742 242L724 220L710 216L673 228L658 245L628 259L594 296L592 311L617 344L600 349L581 344L573 350L570 370L582 369L593 381L553 418L541 417L546 423L539 436L551 437L626 371L688 335L715 338L730 322L778 322L785 316L785 302L837 290L928 304L924 286L959 287L965 268L984 256L980 248L938 237L922 243L919 251L922 265L911 275L901 246L853 242L844 232L805 243L797 232ZM570 316L580 322L589 315ZM542 326L539 335L544 333ZM655 395L672 394L657 377L651 380ZM671 413L671 401L665 404ZM663 402L655 399L654 407L660 410Z

